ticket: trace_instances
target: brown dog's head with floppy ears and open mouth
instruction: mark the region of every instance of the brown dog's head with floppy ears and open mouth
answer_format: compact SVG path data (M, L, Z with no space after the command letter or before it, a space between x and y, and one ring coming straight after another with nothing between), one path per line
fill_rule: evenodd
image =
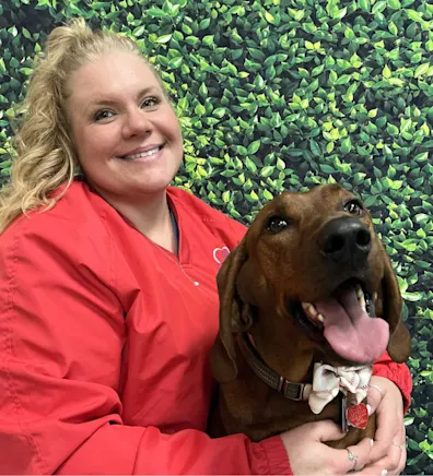
M389 258L362 202L340 186L270 201L225 260L218 288L220 382L236 377L234 337L246 331L339 365L367 364L385 349L397 362L409 356Z

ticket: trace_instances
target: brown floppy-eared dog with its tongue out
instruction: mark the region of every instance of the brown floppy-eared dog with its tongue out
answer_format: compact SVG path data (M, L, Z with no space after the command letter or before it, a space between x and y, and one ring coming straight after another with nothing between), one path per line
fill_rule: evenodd
M318 414L307 402L315 362L371 368L386 349L397 362L409 356L388 255L363 204L337 185L270 201L225 260L218 287L212 436L258 441L319 419L341 425L343 393ZM374 430L370 417L365 429L349 427L329 444L346 448Z

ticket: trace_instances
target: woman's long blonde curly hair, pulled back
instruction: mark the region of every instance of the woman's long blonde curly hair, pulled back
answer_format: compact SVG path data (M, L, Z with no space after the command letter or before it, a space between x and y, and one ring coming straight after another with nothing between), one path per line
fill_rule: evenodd
M92 31L82 19L48 35L22 104L23 121L15 138L17 156L11 167L11 180L0 192L0 234L21 214L51 209L80 174L66 114L68 79L81 66L113 50L138 55L162 84L137 44L126 36ZM54 197L52 192L62 185L62 192Z

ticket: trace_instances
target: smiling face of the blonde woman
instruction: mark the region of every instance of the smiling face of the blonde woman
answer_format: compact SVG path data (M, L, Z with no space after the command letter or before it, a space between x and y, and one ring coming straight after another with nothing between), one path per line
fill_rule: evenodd
M183 157L177 117L145 62L114 51L79 68L67 110L80 165L108 202L165 191Z

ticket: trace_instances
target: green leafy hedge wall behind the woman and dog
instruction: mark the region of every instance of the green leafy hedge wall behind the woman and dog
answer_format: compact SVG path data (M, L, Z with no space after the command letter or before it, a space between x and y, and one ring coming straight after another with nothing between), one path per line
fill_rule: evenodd
M0 183L14 106L71 16L136 38L182 118L175 183L248 224L283 190L365 201L412 334L407 474L433 473L433 4L424 0L9 0L0 4Z

